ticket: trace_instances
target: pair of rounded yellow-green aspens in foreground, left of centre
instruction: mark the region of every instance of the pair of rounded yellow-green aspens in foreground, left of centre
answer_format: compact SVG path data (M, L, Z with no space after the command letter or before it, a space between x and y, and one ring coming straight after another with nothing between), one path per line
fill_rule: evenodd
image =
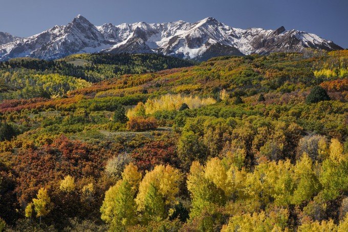
M168 217L179 193L182 174L169 165L158 165L142 179L133 163L125 166L122 179L110 187L100 208L101 218L112 231L123 231L140 222Z

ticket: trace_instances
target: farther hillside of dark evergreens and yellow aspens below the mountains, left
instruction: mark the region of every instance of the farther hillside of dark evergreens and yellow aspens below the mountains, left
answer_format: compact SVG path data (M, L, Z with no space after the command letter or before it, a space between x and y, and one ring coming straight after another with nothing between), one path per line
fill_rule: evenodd
M15 58L0 62L0 100L61 97L69 91L124 74L193 64L155 54L77 54L59 60Z

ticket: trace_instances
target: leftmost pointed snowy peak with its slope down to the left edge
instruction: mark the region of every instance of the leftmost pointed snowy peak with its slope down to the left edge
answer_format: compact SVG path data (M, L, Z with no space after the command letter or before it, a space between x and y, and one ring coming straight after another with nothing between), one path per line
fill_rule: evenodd
M23 56L53 59L74 53L98 52L112 44L93 24L78 15L67 26L54 26L0 46L0 56L2 60Z

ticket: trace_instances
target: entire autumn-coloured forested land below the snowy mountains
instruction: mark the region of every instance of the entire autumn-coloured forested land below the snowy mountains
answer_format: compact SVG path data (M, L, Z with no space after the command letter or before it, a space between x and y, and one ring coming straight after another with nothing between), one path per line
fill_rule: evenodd
M0 231L348 230L347 50L13 59L0 81Z

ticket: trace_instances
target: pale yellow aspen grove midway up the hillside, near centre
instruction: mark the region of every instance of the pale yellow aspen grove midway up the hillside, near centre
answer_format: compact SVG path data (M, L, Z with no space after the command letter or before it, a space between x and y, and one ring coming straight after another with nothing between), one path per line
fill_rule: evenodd
M134 116L143 116L139 115L139 109L144 108L146 115L153 114L156 111L162 110L179 110L183 103L186 103L190 109L199 108L202 106L207 106L209 104L214 104L216 101L212 97L200 98L198 96L183 96L181 94L166 94L162 95L157 99L147 99L145 104L140 102L138 106L134 109L131 109L127 112L127 117L131 118Z

